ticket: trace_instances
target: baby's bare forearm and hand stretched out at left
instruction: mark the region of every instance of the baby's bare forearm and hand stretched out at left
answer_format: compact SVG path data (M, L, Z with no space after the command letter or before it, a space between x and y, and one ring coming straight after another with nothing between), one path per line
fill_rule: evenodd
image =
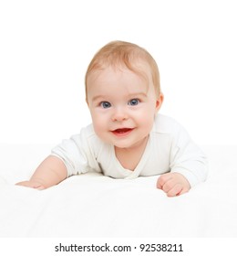
M67 168L57 156L49 155L36 168L36 172L29 181L22 181L16 185L45 189L57 185L67 178Z

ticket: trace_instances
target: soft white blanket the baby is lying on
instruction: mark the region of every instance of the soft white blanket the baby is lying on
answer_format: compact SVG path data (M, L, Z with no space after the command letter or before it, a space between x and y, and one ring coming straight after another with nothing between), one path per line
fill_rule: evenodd
M52 145L1 144L0 237L237 237L237 146L202 146L208 180L180 197L134 180L89 173L38 191L31 176Z

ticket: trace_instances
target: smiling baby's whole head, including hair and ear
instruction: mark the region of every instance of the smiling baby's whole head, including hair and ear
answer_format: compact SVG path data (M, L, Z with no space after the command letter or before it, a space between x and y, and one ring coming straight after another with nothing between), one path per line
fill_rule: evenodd
M100 139L118 148L145 144L163 100L156 61L137 45L111 42L88 66L86 95Z

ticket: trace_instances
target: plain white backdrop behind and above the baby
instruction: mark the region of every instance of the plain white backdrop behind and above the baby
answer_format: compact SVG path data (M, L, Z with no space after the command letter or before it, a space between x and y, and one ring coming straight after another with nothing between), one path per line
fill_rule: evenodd
M57 144L90 123L84 75L114 39L160 67L161 113L198 144L237 144L235 1L0 2L0 143Z

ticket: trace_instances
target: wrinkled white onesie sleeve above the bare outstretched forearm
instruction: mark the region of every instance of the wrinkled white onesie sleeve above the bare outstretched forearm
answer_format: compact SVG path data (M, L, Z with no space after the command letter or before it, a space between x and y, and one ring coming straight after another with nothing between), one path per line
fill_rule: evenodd
M91 135L86 128L81 133L63 140L52 149L51 155L60 158L67 167L67 176L79 175L94 170L99 171L94 152L90 148Z

